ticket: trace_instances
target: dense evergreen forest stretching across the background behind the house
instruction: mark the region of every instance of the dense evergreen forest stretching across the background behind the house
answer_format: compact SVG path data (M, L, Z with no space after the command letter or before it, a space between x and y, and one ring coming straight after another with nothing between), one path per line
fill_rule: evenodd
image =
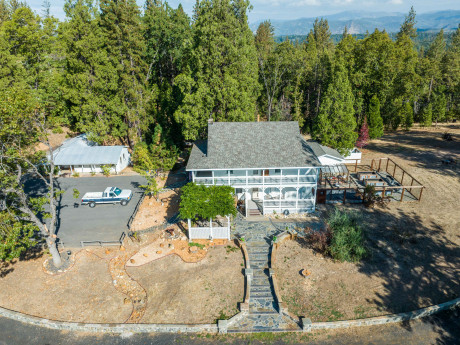
M51 129L171 160L210 117L296 120L343 151L366 117L375 138L460 116L460 27L420 47L414 9L392 35L333 40L318 19L302 41L280 41L269 21L251 32L247 0L197 1L192 18L161 0L68 0L64 21L49 8L0 2L4 124L40 113Z

